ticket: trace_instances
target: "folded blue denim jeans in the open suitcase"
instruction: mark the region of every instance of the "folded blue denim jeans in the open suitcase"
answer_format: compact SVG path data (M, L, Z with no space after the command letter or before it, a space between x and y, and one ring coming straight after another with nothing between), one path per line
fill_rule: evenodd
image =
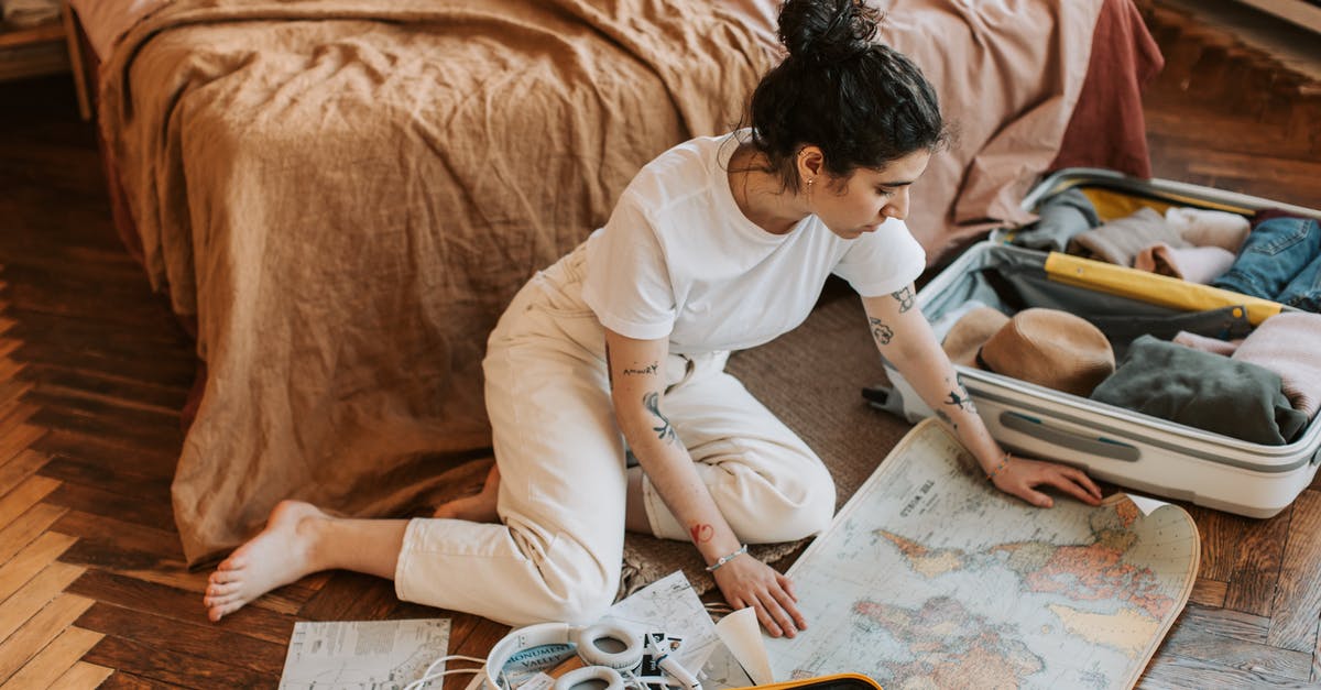
M1281 217L1258 225L1230 270L1211 284L1321 312L1321 222Z

